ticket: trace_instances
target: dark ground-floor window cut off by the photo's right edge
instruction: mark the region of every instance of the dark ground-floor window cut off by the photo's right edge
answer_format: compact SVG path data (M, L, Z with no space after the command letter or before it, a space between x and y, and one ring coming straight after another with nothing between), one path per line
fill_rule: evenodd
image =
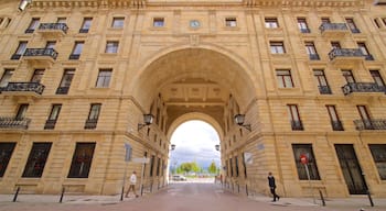
M386 144L369 144L375 166L382 180L386 179Z

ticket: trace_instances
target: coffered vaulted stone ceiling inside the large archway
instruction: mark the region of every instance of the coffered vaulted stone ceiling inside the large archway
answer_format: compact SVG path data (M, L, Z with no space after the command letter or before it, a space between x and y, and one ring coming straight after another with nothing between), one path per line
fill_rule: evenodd
M199 112L212 116L224 130L224 107L229 96L245 108L255 91L251 79L238 63L204 48L178 49L160 56L136 81L135 98L146 109L161 93L167 106L168 129L179 116Z

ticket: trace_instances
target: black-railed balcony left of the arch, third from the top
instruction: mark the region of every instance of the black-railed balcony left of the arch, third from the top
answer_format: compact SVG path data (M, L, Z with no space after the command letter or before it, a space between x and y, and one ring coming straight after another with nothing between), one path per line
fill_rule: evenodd
M1 93L12 97L36 98L43 93L44 88L44 85L39 82L8 82L8 86L1 89Z

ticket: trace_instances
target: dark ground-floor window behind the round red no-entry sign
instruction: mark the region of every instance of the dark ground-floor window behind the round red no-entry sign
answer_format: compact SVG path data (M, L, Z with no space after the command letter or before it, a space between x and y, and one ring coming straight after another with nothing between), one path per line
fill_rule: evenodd
M294 163L298 169L298 176L300 180L308 180L308 175L304 164L300 162L300 156L308 158L307 167L309 169L311 180L320 180L317 159L313 155L312 144L292 144L292 151L294 156Z

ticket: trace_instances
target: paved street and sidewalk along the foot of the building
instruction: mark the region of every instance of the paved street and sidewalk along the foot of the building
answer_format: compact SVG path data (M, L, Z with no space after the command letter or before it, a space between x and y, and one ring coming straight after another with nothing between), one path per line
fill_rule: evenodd
M320 207L310 199L281 198L270 202L266 196L245 197L234 195L221 185L213 182L173 182L157 193L140 198L119 196L67 196L63 203L57 196L20 196L18 202L10 202L12 196L0 196L0 211L354 211L386 210L386 199L376 200L376 207L369 208L365 198L328 201ZM10 200L4 200L8 197ZM354 202L355 201L355 202ZM330 206L329 206L330 203Z

